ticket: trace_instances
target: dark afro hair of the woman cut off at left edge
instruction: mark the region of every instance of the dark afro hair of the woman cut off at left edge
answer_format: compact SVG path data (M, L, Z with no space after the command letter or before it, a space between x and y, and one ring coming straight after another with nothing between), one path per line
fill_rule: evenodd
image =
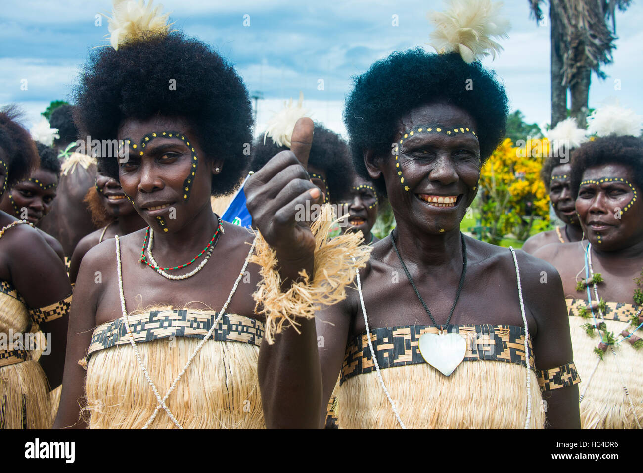
M16 105L0 109L0 148L6 155L8 178L6 188L23 181L38 165L38 151L35 142L23 125L19 123L22 113Z

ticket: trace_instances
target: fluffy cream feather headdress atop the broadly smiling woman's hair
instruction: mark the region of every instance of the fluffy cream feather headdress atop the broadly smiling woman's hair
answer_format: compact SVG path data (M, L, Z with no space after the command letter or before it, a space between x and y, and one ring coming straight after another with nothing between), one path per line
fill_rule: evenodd
M460 53L467 64L489 54L496 58L502 46L495 38L508 38L509 20L500 15L502 2L491 0L448 0L445 12L429 12L429 21L435 24L428 43L438 54Z

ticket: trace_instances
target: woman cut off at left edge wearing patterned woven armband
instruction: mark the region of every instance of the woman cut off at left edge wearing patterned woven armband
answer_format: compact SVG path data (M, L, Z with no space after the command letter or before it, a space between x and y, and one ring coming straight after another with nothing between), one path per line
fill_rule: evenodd
M0 111L1 195L28 178L39 161L18 119L15 107ZM50 391L62 382L71 286L44 234L30 226L0 211L2 429L51 427ZM49 334L44 352L34 345L36 325ZM35 361L38 351L42 355Z

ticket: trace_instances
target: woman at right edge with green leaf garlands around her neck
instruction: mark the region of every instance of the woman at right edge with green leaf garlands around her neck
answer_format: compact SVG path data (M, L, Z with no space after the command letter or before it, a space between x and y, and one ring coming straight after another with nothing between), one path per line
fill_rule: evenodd
M619 115L608 121L618 123ZM583 380L583 428L640 429L643 140L599 134L574 151L571 165L570 186L587 240L550 244L534 256L552 263L563 279L574 360Z

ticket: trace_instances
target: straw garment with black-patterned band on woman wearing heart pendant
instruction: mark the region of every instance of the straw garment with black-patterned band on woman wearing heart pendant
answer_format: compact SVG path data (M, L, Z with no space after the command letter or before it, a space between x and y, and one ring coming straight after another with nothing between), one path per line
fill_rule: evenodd
M448 325L465 338L464 361L444 376L419 350L428 325L372 328L370 339L385 386L406 427L421 429L523 429L527 415L525 332L512 325ZM531 341L528 341L532 353ZM543 428L539 380L530 361L531 428ZM550 384L554 382L550 381ZM568 380L569 383L572 380ZM553 388L553 386L552 386ZM556 388L554 388L556 389ZM379 383L366 332L347 345L338 394L342 429L399 427Z

